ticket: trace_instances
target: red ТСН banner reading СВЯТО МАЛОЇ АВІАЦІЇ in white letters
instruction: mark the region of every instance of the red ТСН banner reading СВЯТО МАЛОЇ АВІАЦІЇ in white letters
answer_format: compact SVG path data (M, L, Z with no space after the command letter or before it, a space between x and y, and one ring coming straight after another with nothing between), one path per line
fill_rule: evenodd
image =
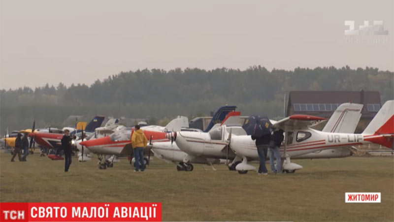
M0 203L1 222L158 222L162 203Z

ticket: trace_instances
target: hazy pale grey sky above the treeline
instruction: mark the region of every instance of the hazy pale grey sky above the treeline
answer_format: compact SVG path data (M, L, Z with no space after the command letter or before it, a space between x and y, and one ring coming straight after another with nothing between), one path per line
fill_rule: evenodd
M144 68L394 71L393 2L1 0L0 89ZM345 20L383 20L389 34L346 36Z

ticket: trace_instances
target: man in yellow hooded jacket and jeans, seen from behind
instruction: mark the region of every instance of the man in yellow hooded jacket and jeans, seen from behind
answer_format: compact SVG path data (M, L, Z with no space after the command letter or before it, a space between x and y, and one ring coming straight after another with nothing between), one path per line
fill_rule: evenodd
M135 170L134 172L138 172L139 166L141 165L141 172L145 170L144 165L144 148L148 144L148 139L145 136L145 133L140 129L139 125L135 125L134 132L131 136L131 145L134 152L134 160L135 160Z

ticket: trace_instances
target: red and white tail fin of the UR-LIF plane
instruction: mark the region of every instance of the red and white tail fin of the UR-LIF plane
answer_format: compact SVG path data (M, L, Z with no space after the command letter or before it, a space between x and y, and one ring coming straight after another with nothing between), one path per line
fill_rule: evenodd
M383 104L362 134L366 141L394 149L394 100Z

